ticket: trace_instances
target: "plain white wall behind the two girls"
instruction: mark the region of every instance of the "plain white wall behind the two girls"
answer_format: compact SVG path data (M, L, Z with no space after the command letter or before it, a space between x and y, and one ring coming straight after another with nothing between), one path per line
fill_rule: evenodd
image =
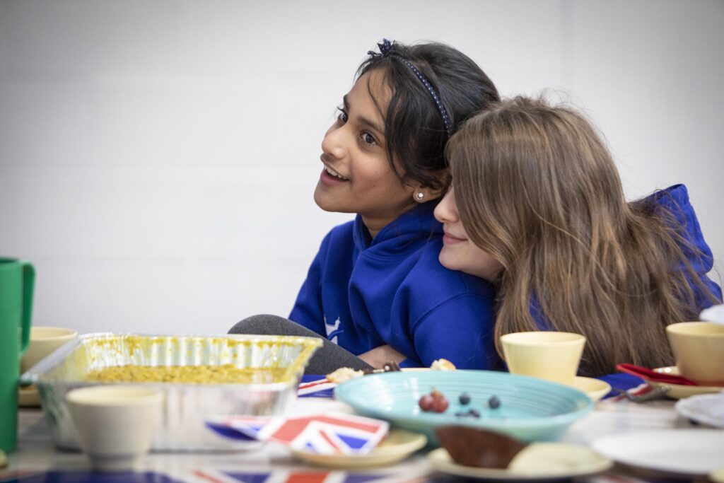
M555 88L628 196L685 182L724 256L720 0L0 0L0 253L34 323L226 332L287 315L323 235L320 143L383 36Z

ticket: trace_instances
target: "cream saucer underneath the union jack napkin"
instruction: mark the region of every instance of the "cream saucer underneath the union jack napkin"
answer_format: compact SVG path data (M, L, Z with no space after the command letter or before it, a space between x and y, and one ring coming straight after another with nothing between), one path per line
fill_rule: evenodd
M427 443L424 434L392 429L376 448L366 455L321 455L306 451L292 450L292 454L301 460L320 466L335 468L363 468L395 463L415 453Z

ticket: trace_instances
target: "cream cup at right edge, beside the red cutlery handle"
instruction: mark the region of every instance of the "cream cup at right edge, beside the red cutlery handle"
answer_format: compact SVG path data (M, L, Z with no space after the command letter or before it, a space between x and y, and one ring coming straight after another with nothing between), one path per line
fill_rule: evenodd
M680 322L666 326L679 374L702 386L724 385L724 325Z

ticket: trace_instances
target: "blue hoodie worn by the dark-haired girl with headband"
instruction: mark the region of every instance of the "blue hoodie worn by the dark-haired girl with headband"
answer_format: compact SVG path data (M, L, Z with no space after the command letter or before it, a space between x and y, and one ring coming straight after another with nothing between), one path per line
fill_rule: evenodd
M437 203L416 206L370 238L362 217L334 227L321 243L289 318L359 355L388 344L429 366L491 369L494 288L446 269L437 257Z

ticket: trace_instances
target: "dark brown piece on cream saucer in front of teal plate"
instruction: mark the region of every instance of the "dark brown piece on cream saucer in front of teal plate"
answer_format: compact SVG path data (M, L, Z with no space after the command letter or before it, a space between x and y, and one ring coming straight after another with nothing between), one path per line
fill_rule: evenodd
M441 426L435 436L455 463L477 468L508 468L527 446L505 434L467 426Z

